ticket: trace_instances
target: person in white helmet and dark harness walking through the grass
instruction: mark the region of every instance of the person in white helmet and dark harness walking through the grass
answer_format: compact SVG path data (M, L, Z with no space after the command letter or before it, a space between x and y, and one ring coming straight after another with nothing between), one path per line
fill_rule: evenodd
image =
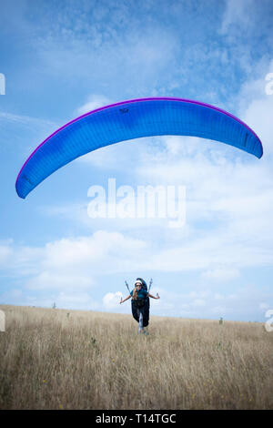
M143 334L147 334L145 328L149 323L150 297L152 299L160 299L158 294L157 297L150 294L147 291L147 287L144 286L144 283L137 279L134 290L132 290L124 300L120 301L120 303L124 303L132 298L132 315L138 322L138 332Z

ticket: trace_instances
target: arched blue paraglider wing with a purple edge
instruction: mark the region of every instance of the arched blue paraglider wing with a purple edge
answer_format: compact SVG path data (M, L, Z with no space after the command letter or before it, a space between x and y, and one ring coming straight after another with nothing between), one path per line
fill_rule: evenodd
M56 169L119 141L162 135L220 141L261 158L258 136L237 117L182 98L141 98L97 108L46 138L21 168L15 188L24 198Z

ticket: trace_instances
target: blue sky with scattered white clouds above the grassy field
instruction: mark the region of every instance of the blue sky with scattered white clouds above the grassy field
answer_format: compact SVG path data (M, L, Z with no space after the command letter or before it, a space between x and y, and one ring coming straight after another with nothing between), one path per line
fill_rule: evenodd
M151 316L267 321L272 2L0 0L0 12L0 303L130 313L119 304L125 280L132 288L142 277L160 295ZM202 138L139 138L77 158L18 198L25 159L58 127L139 97L223 108L256 132L264 156ZM107 194L111 178L135 193L184 189L185 221L90 218L90 187Z

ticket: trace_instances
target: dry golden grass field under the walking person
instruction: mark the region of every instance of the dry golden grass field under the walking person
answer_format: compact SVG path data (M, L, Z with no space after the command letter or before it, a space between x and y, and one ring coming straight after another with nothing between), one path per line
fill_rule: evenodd
M1 409L273 409L261 323L0 309Z

